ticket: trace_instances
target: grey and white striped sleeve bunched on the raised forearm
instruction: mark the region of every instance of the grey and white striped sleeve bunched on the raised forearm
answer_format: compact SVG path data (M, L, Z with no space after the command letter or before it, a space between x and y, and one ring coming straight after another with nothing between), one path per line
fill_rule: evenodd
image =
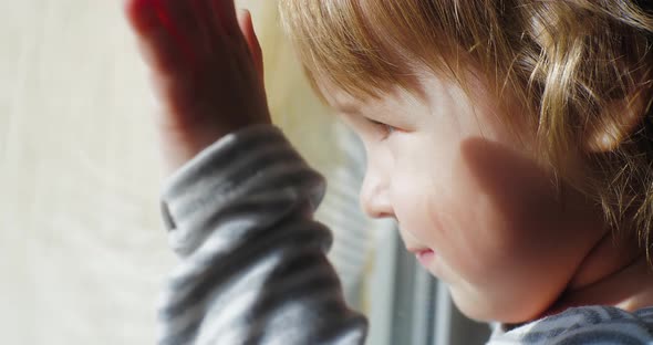
M162 213L180 261L159 299L159 344L363 344L312 219L324 178L282 132L229 134L170 176Z

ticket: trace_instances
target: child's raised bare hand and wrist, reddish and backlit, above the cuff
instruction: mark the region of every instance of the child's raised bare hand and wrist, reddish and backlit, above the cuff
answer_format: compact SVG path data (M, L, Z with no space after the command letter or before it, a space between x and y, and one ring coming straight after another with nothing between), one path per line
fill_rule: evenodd
M225 134L270 123L260 45L234 0L126 0L125 11L163 106L170 172Z

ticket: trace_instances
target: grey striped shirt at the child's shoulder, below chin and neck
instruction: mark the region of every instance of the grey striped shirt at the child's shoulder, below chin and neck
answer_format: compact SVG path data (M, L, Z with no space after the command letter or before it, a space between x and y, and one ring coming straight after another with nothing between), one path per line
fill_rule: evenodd
M651 345L653 309L634 313L591 305L531 322L506 333L496 332L488 345Z

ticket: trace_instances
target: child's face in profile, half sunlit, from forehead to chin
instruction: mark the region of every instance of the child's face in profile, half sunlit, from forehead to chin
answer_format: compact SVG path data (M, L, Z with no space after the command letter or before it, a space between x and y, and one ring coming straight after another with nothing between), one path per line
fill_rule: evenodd
M499 114L479 85L468 98L428 76L425 102L397 91L350 114L353 98L323 91L365 145L364 210L395 218L406 248L434 251L425 268L466 315L522 322L568 286L603 227L580 196L556 197L532 136L517 140L497 119L524 114Z

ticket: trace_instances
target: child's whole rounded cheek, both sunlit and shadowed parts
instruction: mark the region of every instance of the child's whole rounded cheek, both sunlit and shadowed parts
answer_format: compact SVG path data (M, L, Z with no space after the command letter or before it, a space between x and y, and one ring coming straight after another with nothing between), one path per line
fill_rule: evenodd
M393 200L402 232L436 252L427 269L449 283L468 316L537 314L564 289L579 259L578 250L560 245L571 229L549 177L481 138L450 153L397 165Z

